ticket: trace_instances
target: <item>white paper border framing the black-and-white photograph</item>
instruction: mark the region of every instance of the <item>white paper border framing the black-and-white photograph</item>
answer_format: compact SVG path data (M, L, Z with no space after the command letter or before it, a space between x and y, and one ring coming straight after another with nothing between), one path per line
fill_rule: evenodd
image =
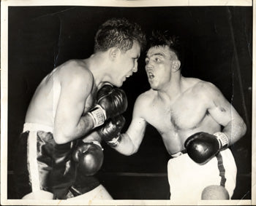
M213 0L4 0L1 1L1 205L181 205L170 200L105 200L105 201L75 201L73 200L20 200L7 199L7 76L8 76L8 7L10 6L100 6L100 7L166 7L166 6L249 6L253 7L253 66L252 79L255 73L255 4L252 0L214 1ZM198 205L256 205L256 89L252 82L252 199L251 200L225 200L200 201Z

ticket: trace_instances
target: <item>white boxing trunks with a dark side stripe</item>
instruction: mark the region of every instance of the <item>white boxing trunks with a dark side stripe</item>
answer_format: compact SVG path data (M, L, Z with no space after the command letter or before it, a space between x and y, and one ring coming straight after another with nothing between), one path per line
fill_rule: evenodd
M188 154L170 159L167 164L170 200L173 203L197 205L206 186L221 184L225 184L232 197L236 187L236 162L229 148L219 154L219 161L214 157L205 165L198 165Z

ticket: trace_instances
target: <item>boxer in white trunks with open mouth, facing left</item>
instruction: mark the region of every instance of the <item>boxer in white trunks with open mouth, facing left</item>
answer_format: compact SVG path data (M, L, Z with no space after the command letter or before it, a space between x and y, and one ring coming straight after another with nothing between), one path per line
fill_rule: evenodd
M229 199L236 163L228 147L245 134L246 125L214 84L181 75L176 40L153 33L146 55L151 90L136 100L127 132L102 137L121 154L135 154L151 124L173 157L167 165L173 202Z

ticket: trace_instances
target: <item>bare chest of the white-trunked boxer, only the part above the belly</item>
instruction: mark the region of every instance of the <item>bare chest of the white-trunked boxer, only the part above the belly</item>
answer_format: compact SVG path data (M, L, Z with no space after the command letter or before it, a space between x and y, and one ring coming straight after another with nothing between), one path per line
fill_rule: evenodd
M197 94L186 92L170 103L155 101L148 109L148 123L157 128L161 135L179 135L195 130L207 118L211 118L206 103Z

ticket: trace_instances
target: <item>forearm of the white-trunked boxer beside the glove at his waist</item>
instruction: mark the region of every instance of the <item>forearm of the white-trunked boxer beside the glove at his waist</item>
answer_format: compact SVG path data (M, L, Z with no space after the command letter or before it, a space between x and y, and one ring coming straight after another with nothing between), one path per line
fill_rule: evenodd
M224 127L222 132L227 135L228 145L230 146L244 136L246 132L246 124L241 118L233 119Z

